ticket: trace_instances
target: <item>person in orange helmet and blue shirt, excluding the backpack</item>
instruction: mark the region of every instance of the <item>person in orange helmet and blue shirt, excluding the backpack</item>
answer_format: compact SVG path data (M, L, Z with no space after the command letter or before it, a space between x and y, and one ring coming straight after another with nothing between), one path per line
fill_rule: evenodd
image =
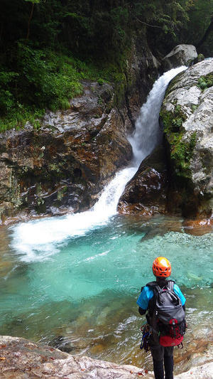
M156 277L156 283L160 288L165 287L168 284L166 278L170 277L171 265L167 258L157 257L153 262L153 274ZM173 291L180 298L182 307L185 311L185 297L183 296L180 288L177 284L174 284ZM146 314L146 319L148 324L151 325L151 315L153 309L154 292L151 287L147 285L141 288L141 294L138 297L137 304L139 306L139 314ZM153 301L152 301L153 300ZM155 379L164 379L164 369L165 368L165 379L173 379L173 349L174 346L161 346L159 343L159 333L151 333L148 339L148 344L151 349L151 355L153 358L153 370L155 374Z

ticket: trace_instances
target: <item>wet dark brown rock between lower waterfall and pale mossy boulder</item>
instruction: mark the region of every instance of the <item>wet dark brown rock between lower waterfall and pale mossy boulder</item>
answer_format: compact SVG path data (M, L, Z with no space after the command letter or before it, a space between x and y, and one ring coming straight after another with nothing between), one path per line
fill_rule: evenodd
M119 213L155 215L165 213L168 187L167 165L163 146L141 164L119 199Z

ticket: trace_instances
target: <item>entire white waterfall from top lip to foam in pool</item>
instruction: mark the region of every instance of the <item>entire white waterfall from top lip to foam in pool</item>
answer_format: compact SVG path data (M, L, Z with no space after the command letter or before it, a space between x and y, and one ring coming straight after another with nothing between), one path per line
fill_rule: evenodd
M21 260L32 261L46 259L58 251L58 245L67 238L84 235L87 230L107 223L116 214L116 205L124 191L126 183L136 173L141 161L151 153L160 142L158 117L166 87L171 79L178 75L185 66L175 68L161 76L153 85L146 104L136 122L136 131L129 137L133 148L131 166L119 171L109 183L91 210L60 218L48 218L21 223L14 227L13 249L21 254Z

